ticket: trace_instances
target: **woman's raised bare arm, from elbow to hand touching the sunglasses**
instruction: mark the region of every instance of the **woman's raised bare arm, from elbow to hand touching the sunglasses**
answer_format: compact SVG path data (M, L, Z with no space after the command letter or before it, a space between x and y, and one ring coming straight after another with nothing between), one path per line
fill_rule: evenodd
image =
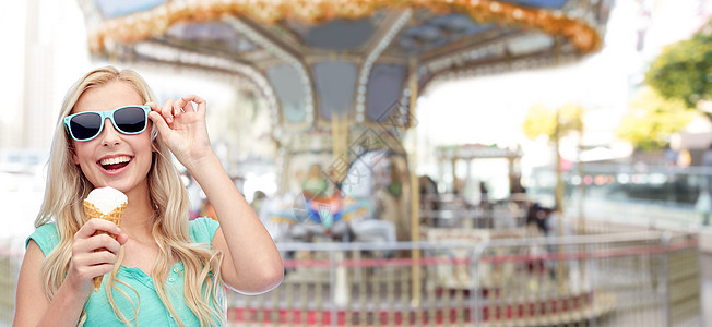
M245 293L262 293L280 284L284 277L280 252L211 147L205 100L191 95L177 101L168 99L162 107L147 105L154 110L150 117L162 140L215 209L221 227L213 245L225 254L221 268L225 283Z

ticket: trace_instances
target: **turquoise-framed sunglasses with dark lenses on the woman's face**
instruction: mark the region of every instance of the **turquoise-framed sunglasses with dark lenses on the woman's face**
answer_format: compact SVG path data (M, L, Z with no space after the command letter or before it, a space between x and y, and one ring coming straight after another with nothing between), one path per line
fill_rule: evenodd
M84 111L64 118L64 128L75 141L94 140L104 130L104 120L111 120L114 128L123 134L139 134L149 125L149 106L126 106L109 111Z

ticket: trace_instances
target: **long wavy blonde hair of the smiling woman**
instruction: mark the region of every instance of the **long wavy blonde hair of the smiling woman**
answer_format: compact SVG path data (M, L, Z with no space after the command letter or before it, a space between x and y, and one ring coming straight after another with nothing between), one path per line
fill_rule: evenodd
M72 161L72 143L64 131L62 120L70 114L85 90L115 82L127 83L135 89L144 101L155 100L153 93L139 74L131 70L119 71L114 66L105 66L88 72L72 85L64 97L57 120L51 153L47 164L47 187L39 214L35 220L35 227L40 227L50 222L54 218L59 234L59 244L47 255L40 270L45 294L50 301L62 284L69 270L74 233L86 221L82 202L94 189L82 173L80 167ZM157 130L155 126L151 133L154 155L146 178L153 205L152 234L158 245L158 257L152 270L156 292L166 308L176 318L178 325L183 326L168 299L165 287L171 261L174 257L178 257L185 268L183 294L188 307L195 314L201 326L224 325L224 306L221 299L223 282L219 275L223 254L217 250L207 249L191 241L188 222L188 192L182 184L178 170L173 165L168 147L159 137L156 137ZM116 288L115 283L126 284L123 281L116 279L122 259L123 251L119 253L115 269L106 280L106 292L117 318L130 325L130 320L117 307L112 295L112 291L116 289L128 298L123 291ZM137 318L138 325L140 305L135 303L133 305L135 307L134 318ZM80 325L85 319L86 312L83 312Z

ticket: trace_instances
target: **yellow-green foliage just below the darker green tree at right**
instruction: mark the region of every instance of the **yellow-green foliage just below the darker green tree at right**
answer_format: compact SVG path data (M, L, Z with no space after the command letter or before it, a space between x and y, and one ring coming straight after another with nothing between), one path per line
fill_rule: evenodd
M666 99L651 87L641 88L629 104L616 134L643 152L665 147L669 136L683 130L692 119L690 111L680 99Z

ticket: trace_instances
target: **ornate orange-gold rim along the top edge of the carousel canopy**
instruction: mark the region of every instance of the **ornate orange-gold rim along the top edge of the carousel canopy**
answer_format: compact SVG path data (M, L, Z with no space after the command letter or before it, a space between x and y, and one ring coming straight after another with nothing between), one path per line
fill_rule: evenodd
M598 1L591 1L590 7L597 5ZM334 17L359 19L372 14L384 8L414 9L426 8L430 10L455 10L466 12L480 23L498 21L514 23L523 28L539 28L553 35L570 39L582 52L591 52L601 46L597 31L575 17L567 16L562 11L556 10L549 14L546 10L530 9L509 2L491 0L471 1L438 1L438 0L370 0L370 1L333 1L333 0L304 0L296 4L278 0L206 0L206 1L169 1L145 11L149 24L132 25L127 16L112 19L104 25L93 27L90 36L92 50L103 52L109 39L121 39L124 43L135 43L153 35L163 34L167 26L178 21L207 21L219 19L224 14L248 15L263 23L272 23L285 17L295 17L309 23L324 22ZM121 28L109 26L117 22ZM134 28L126 28L131 27ZM130 31L130 32L128 32ZM585 36L580 36L585 34Z

